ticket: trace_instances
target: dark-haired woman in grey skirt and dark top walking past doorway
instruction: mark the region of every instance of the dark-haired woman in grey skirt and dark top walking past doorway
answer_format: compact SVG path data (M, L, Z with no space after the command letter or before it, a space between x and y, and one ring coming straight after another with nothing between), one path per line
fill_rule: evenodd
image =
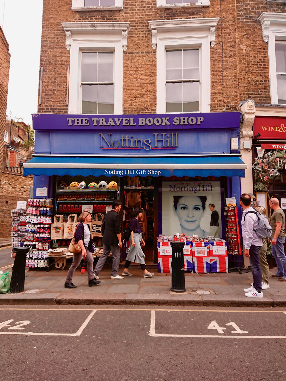
M143 253L143 250L141 249L141 243L143 247L145 246L145 242L141 234L140 223L138 222L138 219L142 217L142 213L143 213L143 209L135 208L133 210L133 218L131 219L128 225L131 231L130 239L129 239L130 246L126 251L128 254L126 257L125 268L122 272L123 276L133 275L128 271L128 267L130 266L131 262L140 263L141 269L143 270L144 278L149 278L154 275L154 272L147 271L146 264L145 264L145 254Z

